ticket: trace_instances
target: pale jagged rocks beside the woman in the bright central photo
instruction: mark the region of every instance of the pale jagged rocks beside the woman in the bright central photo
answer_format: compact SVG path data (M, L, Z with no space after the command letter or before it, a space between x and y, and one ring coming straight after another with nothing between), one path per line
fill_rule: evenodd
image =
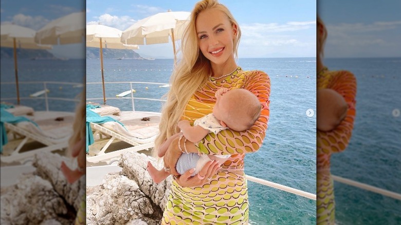
M153 183L146 171L148 161L156 163L144 154L124 153L121 172L107 174L101 185L87 188L86 224L160 223L171 180Z

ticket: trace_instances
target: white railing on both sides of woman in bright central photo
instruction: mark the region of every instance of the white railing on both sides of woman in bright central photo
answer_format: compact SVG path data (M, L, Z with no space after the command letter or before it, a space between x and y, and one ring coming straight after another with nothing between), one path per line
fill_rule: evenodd
M130 84L131 90L133 89L132 84L169 85L169 84L166 84L166 83L129 82L129 81L127 81L127 82L104 82L104 83L105 83L105 84L128 84L128 83L129 83L129 84ZM99 85L101 85L102 82L87 82L86 84L99 84ZM166 100L160 100L160 99L137 98L137 97L134 97L133 92L131 92L131 97L106 98L106 99L121 99L121 100L123 100L123 99L131 99L131 102L132 102L132 110L133 110L133 111L135 111L134 99L149 100L149 101L166 101ZM86 100L87 100L87 101L88 101L88 100L91 100L91 101L92 101L92 100L101 100L101 101L103 101L103 98L86 98ZM305 197L305 198L309 198L309 199L313 199L313 200L316 201L316 195L315 195L315 194L311 194L311 193L308 193L308 192L304 192L304 191L301 191L301 190L297 190L297 189L294 189L294 188L290 188L290 187L285 186L285 185L282 185L282 184L274 183L274 182L271 182L271 181L263 180L263 179L260 179L260 178L257 178L257 177L252 177L252 176L248 176L248 175L246 175L246 179L249 180L249 181L252 181L252 182L256 182L256 183L259 183L259 184L263 184L263 185L265 185L265 186L270 186L271 188L279 189L279 190L282 190L282 191L285 191L285 192L289 192L289 193L292 193L292 194L296 194L296 195L299 195L299 196L302 196L302 197Z

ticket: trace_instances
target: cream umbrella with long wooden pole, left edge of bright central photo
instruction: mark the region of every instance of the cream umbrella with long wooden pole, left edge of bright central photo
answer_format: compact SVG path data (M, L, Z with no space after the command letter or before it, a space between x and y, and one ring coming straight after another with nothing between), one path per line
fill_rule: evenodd
M103 71L103 46L110 49L139 49L138 45L121 42L122 31L101 24L86 25L86 47L100 48L100 67L102 70L103 104L106 104Z

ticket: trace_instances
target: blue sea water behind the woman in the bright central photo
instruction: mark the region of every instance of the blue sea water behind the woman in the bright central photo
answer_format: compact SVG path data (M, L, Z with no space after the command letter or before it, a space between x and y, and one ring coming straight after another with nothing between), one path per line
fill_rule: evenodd
M244 70L259 69L271 79L270 119L264 143L245 158L245 173L316 193L316 59L239 59ZM141 81L169 83L173 60L104 59L105 82ZM101 82L99 60L86 61L86 81ZM160 98L168 89L134 84L135 97ZM148 87L148 89L146 89ZM131 110L131 101L110 99L130 90L130 85L106 84L107 104ZM101 103L101 84L87 85L87 98ZM160 110L160 103L135 100L136 110ZM251 224L315 224L316 202L248 181Z

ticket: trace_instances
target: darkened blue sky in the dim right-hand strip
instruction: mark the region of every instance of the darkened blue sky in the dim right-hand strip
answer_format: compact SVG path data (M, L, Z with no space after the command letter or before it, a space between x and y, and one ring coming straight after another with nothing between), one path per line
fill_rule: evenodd
M401 1L319 0L325 58L401 57Z

